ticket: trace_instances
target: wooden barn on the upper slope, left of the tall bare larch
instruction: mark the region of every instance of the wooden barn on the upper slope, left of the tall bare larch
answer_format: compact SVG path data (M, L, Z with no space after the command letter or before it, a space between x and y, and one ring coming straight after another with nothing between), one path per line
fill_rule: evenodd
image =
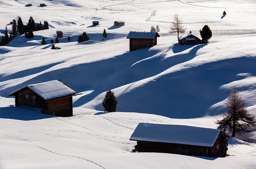
M157 44L157 32L129 32L127 39L130 39L130 51L153 47Z

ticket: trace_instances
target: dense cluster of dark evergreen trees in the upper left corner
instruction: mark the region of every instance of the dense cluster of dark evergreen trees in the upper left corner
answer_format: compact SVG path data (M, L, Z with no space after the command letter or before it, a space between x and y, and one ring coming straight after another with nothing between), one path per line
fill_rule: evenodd
M12 20L12 30L10 31L10 36L8 34L7 26L5 26L4 37L1 38L0 46L7 45L12 39L14 39L18 34L24 34L26 38L33 38L33 31L39 31L49 29L47 21L44 21L44 24L35 23L32 16L30 16L27 25L24 25L20 16Z

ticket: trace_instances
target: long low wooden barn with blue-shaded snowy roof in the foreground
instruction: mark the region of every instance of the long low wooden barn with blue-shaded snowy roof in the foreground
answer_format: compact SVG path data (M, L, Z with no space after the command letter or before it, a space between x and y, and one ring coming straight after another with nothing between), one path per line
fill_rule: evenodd
M161 152L192 156L225 157L227 137L216 129L139 123L130 140L137 141L134 146L138 152Z

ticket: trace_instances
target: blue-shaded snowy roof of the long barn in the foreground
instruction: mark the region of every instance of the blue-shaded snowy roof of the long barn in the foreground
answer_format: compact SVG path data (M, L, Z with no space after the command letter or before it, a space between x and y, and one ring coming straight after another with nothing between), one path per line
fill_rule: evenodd
M220 130L185 125L139 123L130 140L212 147Z

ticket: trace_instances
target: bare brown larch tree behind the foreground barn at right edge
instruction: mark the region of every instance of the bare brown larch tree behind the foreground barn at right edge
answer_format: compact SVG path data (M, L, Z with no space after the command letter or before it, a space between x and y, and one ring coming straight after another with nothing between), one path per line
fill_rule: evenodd
M236 132L251 132L255 130L255 115L249 114L236 88L228 95L228 103L226 105L227 112L222 120L217 120L218 129L232 131L232 137L236 137Z

